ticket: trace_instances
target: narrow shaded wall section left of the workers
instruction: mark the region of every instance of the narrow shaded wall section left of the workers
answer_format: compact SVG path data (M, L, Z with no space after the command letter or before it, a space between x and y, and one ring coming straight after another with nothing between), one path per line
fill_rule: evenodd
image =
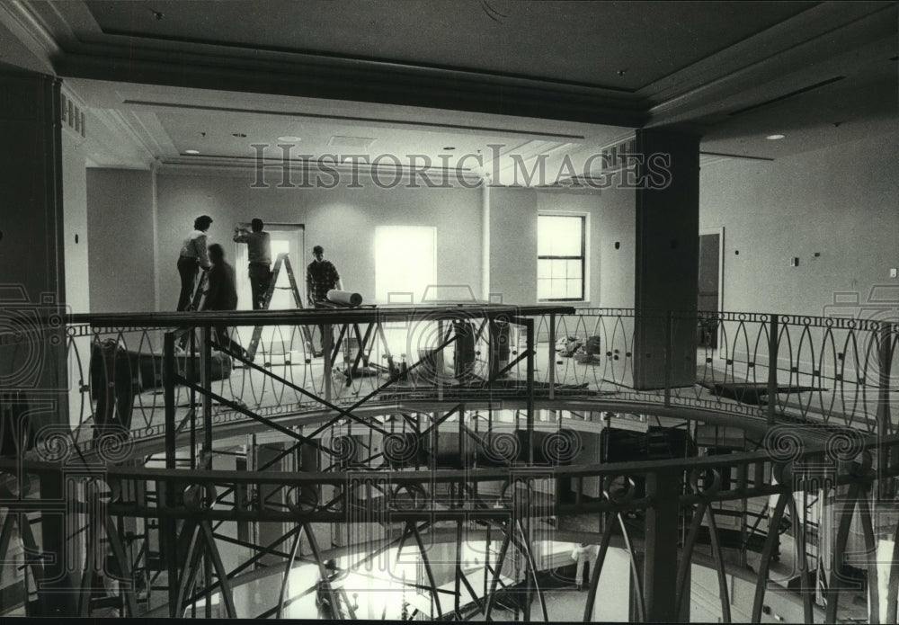
M154 310L151 172L88 168L87 233L91 312Z

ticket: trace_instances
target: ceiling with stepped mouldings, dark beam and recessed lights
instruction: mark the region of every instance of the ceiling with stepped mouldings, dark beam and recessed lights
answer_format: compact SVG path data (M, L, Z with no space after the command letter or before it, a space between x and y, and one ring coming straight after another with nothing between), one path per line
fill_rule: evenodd
M643 127L707 158L895 129L896 23L894 2L22 0L0 4L0 62L61 76L137 146L100 132L96 165L250 163L293 136L291 157L554 170Z

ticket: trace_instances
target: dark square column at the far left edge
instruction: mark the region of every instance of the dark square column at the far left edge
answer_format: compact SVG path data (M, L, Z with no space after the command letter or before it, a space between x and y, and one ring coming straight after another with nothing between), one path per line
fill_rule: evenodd
M68 422L58 315L65 300L59 81L10 71L0 73L0 85L0 400L15 415L30 412L34 432ZM41 327L40 317L53 327Z

